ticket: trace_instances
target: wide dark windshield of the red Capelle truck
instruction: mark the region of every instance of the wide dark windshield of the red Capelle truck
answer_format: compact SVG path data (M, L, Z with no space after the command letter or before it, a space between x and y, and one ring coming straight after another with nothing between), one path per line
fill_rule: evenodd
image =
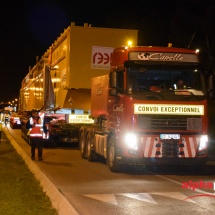
M128 68L127 92L185 90L203 93L201 72L197 68Z

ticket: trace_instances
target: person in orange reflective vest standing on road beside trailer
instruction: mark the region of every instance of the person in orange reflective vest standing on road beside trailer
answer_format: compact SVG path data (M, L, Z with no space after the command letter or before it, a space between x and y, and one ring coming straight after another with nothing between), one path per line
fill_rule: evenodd
M38 160L43 160L43 123L39 117L38 111L32 111L32 116L29 118L26 128L30 132L31 142L31 159L35 160L35 150L38 150Z

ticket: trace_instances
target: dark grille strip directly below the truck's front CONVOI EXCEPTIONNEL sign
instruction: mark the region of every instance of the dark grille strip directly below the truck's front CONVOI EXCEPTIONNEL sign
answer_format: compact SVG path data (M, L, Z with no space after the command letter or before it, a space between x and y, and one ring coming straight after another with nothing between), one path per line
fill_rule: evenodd
M198 116L138 115L138 128L153 130L201 130Z

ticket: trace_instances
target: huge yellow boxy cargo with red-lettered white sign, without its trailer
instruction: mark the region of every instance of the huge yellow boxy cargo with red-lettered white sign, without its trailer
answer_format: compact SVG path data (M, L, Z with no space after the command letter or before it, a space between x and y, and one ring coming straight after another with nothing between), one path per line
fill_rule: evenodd
M71 23L23 79L20 110L89 112L91 78L108 74L113 49L137 44L137 33Z

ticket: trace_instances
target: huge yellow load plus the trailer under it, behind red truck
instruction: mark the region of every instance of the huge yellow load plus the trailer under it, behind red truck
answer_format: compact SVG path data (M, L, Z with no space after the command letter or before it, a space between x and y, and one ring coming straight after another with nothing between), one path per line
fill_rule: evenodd
M19 111L22 137L29 142L26 113L40 110L48 133L44 141L78 141L77 128L92 124L91 78L109 73L113 49L137 44L137 30L98 28L74 22L54 41L44 55L36 57L21 83Z

